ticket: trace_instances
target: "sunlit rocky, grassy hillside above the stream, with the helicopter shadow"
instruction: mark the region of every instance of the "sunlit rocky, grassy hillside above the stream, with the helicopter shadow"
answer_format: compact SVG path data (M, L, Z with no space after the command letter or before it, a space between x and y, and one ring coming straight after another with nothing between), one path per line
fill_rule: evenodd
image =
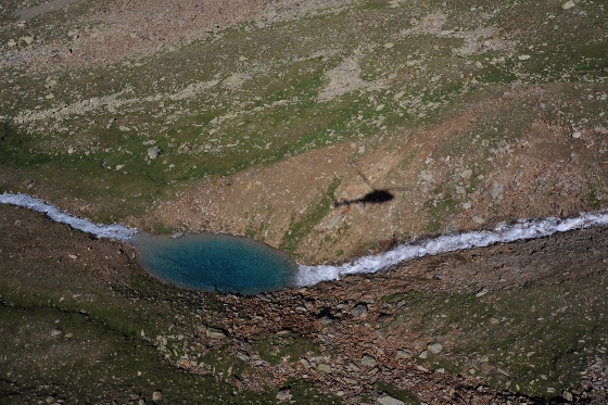
M0 188L155 232L246 235L306 264L599 210L606 24L586 1L5 14ZM391 200L362 200L376 190Z

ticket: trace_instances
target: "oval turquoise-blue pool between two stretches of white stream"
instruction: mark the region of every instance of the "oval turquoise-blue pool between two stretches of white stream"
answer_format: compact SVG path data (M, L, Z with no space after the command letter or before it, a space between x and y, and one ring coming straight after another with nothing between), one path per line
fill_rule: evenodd
M249 238L138 233L132 244L143 268L178 287L249 295L295 286L297 264L286 253Z

